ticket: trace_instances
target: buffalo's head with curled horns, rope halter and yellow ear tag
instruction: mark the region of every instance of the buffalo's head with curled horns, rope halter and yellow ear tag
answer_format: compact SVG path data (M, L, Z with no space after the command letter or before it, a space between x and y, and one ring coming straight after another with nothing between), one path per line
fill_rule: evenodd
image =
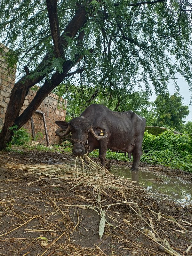
M55 121L60 126L55 131L58 136L65 136L71 132L73 141L73 154L83 156L89 146L87 146L89 134L96 140L103 140L107 137L107 132L100 127L92 127L91 122L84 116L75 117L69 123L65 121Z

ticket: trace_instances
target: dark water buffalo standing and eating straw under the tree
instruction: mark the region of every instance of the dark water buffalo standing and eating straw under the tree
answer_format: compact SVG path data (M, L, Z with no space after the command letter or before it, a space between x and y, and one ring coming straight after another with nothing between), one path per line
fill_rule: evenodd
M114 112L100 104L87 107L80 117L69 123L55 121L60 126L56 130L58 136L71 132L73 154L83 156L93 149L99 148L101 164L105 164L107 149L124 151L133 155L132 171L138 171L142 155L143 134L146 120L131 110ZM65 131L65 132L64 132Z

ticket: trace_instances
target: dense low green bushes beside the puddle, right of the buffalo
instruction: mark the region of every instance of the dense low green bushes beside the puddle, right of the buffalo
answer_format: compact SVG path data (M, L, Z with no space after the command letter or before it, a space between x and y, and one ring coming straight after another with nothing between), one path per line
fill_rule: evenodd
M156 136L145 132L143 149L149 152L141 156L142 162L192 171L192 139L188 134L166 130Z

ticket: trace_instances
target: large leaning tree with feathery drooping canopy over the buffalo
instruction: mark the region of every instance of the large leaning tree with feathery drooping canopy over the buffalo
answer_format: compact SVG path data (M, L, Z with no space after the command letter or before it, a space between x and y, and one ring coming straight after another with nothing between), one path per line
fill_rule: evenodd
M0 134L0 148L61 82L124 95L143 83L164 93L179 72L191 83L191 0L2 0L0 38L17 63L16 82ZM24 69L23 69L24 67ZM29 88L41 85L19 116ZM126 92L126 93L125 93ZM3 143L3 144L2 144Z

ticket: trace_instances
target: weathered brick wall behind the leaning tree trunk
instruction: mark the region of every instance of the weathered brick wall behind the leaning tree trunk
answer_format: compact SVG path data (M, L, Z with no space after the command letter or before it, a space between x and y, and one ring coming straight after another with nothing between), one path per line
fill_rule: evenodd
M1 44L0 47L2 47ZM4 56L6 56L7 52L8 49L5 47L4 51L2 53L0 52L0 129L3 127L4 124L5 112L9 102L10 93L15 83L15 72L11 73L8 70L4 61ZM20 114L25 108L27 108L35 95L36 92L29 90L28 95L26 96L24 104L21 108ZM67 100L61 102L58 99L57 95L50 93L37 109L38 111L44 113L49 144L59 143L59 137L55 134L55 130L58 128L58 126L55 124L55 120L65 120L66 108ZM36 139L38 137L37 141L47 145L43 115L41 113L35 113L32 117L34 123L35 137ZM29 120L23 127L26 128L32 136L31 120ZM43 138L41 139L42 135Z

